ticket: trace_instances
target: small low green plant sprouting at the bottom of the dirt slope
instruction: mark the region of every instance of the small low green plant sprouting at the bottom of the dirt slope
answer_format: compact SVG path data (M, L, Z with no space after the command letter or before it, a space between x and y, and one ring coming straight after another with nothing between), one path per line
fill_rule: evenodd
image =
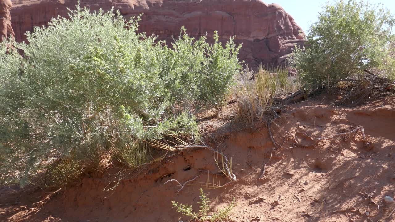
M199 212L194 212L191 205L179 204L175 201L171 201L173 207L176 209L178 213L181 213L185 216L190 217L192 220L198 221L210 221L210 222L222 222L228 219L230 211L236 206L236 201L233 199L228 206L218 209L213 213L210 213L210 199L207 197L207 194L203 192L203 189L200 188L200 202L199 203Z

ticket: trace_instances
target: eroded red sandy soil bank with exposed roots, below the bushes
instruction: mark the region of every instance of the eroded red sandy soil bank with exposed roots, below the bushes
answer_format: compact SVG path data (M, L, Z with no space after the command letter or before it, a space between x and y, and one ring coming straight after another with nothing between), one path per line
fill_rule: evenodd
M395 194L394 97L354 108L322 100L286 107L274 121L278 126L271 124L282 147L272 153L269 163L273 143L266 128L227 132L234 114L232 104L200 124L212 132L225 132L214 134L210 142L221 143L218 149L232 159L237 182L207 189L204 183L222 185L229 180L212 174L218 171L213 152L190 150L143 169L137 177L126 177L113 191L103 189L113 179L110 174L118 171L115 167L55 192L0 188L0 221L185 222L188 218L176 213L171 201L193 203L198 210L200 187L209 193L213 208L236 199L229 221L395 221L395 213L391 214L395 204L383 202L384 196ZM331 137L358 126L369 144L364 145L358 132L323 139L313 147L295 147L290 135L300 145L310 145L316 141L311 137ZM259 179L265 163L264 178ZM197 175L201 176L180 192L176 182L164 184L170 179L184 183Z

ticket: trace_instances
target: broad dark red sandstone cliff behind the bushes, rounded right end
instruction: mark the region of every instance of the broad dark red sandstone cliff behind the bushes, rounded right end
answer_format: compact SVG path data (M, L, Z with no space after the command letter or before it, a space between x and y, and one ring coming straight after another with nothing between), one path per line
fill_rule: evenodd
M67 16L77 0L14 0L11 10L17 41L33 26L42 26L57 15ZM180 27L194 37L212 36L214 30L222 41L236 36L243 43L240 60L251 68L260 64L279 64L286 60L295 45L303 44L305 34L284 9L260 0L81 0L91 10L114 7L127 19L143 13L140 30L171 41Z

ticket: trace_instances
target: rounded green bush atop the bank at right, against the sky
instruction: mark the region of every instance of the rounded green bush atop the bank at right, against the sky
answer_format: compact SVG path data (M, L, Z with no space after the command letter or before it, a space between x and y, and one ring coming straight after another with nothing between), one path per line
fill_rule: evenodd
M306 88L329 88L373 69L393 75L395 17L388 9L356 0L336 1L323 9L310 26L305 48L295 49L291 59Z

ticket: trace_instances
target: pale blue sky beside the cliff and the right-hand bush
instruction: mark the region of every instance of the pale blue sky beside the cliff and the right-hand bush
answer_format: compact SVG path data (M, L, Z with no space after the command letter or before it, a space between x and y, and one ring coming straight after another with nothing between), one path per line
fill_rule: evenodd
M276 3L285 11L292 15L296 23L299 24L306 32L310 24L314 23L317 19L318 12L322 11L322 5L327 0L315 0L315 1L304 1L304 0L263 0L265 3ZM391 13L395 14L395 0L370 0L371 3L382 3L388 8Z

